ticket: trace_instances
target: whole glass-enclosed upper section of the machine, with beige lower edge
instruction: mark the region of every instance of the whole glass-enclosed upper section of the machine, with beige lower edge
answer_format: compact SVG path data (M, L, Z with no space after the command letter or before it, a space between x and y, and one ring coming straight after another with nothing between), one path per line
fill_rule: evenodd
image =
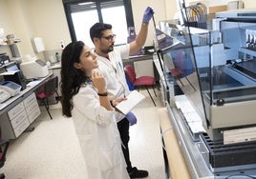
M224 129L255 125L256 23L225 17L212 30L214 15L198 16L205 20L199 26L189 22L182 3L181 9L182 23L162 21L156 30L163 70L176 79L212 139L222 138Z

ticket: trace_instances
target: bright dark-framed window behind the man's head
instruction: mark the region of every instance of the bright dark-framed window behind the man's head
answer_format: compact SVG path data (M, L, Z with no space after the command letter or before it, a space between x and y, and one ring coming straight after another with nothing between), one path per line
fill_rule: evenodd
M94 48L90 28L96 22L103 22L112 25L113 33L117 34L116 45L127 43L127 27L134 26L130 0L63 0L63 5L73 41L82 40Z

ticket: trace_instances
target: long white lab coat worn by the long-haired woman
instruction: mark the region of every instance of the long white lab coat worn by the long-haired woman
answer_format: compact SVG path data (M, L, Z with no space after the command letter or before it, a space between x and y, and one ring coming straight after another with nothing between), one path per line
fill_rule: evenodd
M121 151L114 111L99 105L98 95L91 84L81 87L73 102L73 121L88 179L130 178Z

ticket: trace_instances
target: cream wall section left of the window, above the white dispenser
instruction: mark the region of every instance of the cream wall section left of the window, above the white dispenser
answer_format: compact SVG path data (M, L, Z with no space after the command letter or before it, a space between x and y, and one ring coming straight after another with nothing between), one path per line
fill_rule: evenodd
M23 0L24 1L24 0ZM47 50L60 49L60 41L71 42L62 0L26 0L32 36L44 39Z

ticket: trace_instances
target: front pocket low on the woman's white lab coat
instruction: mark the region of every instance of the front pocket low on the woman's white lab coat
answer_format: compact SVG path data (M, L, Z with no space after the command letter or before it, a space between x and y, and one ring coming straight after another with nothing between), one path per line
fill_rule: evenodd
M117 145L111 149L100 149L99 152L100 169L106 171L121 165L120 150Z

